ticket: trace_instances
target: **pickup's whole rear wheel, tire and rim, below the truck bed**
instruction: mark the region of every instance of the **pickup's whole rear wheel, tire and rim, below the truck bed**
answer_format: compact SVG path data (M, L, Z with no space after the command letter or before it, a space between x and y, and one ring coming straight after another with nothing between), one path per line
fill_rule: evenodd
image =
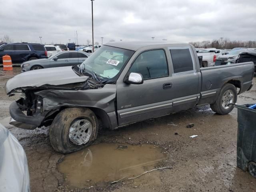
M217 100L213 104L210 104L210 107L214 112L225 115L233 110L234 105L231 103L236 103L236 100L236 87L233 84L227 83L222 87Z

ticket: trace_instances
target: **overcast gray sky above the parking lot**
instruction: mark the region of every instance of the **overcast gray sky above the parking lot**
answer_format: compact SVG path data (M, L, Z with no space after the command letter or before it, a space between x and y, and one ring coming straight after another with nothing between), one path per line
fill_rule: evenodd
M87 44L90 0L1 0L0 38ZM256 40L256 0L95 0L94 42Z

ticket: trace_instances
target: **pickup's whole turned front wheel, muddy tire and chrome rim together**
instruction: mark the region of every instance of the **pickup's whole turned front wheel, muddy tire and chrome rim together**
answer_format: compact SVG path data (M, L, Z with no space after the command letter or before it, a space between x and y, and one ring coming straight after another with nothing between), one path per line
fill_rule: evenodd
M71 153L89 146L96 139L98 120L88 108L66 108L54 118L49 134L54 150Z

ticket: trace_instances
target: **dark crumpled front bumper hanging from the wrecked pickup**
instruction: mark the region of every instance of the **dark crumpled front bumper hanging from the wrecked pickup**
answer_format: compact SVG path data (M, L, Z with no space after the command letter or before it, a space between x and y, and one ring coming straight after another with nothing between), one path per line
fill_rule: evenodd
M19 108L16 102L10 104L10 115L12 117L10 124L22 129L33 130L40 126L44 116L38 114L37 116L26 116Z

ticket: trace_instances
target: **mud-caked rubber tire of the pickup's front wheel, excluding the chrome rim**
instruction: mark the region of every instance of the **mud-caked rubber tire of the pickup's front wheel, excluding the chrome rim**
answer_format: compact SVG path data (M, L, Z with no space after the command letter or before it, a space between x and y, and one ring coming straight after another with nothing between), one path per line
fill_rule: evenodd
M77 119L85 119L92 124L92 134L86 144L73 144L68 136L70 126ZM49 134L54 150L63 154L75 152L89 146L96 139L98 134L98 120L94 112L88 108L66 108L54 118Z

